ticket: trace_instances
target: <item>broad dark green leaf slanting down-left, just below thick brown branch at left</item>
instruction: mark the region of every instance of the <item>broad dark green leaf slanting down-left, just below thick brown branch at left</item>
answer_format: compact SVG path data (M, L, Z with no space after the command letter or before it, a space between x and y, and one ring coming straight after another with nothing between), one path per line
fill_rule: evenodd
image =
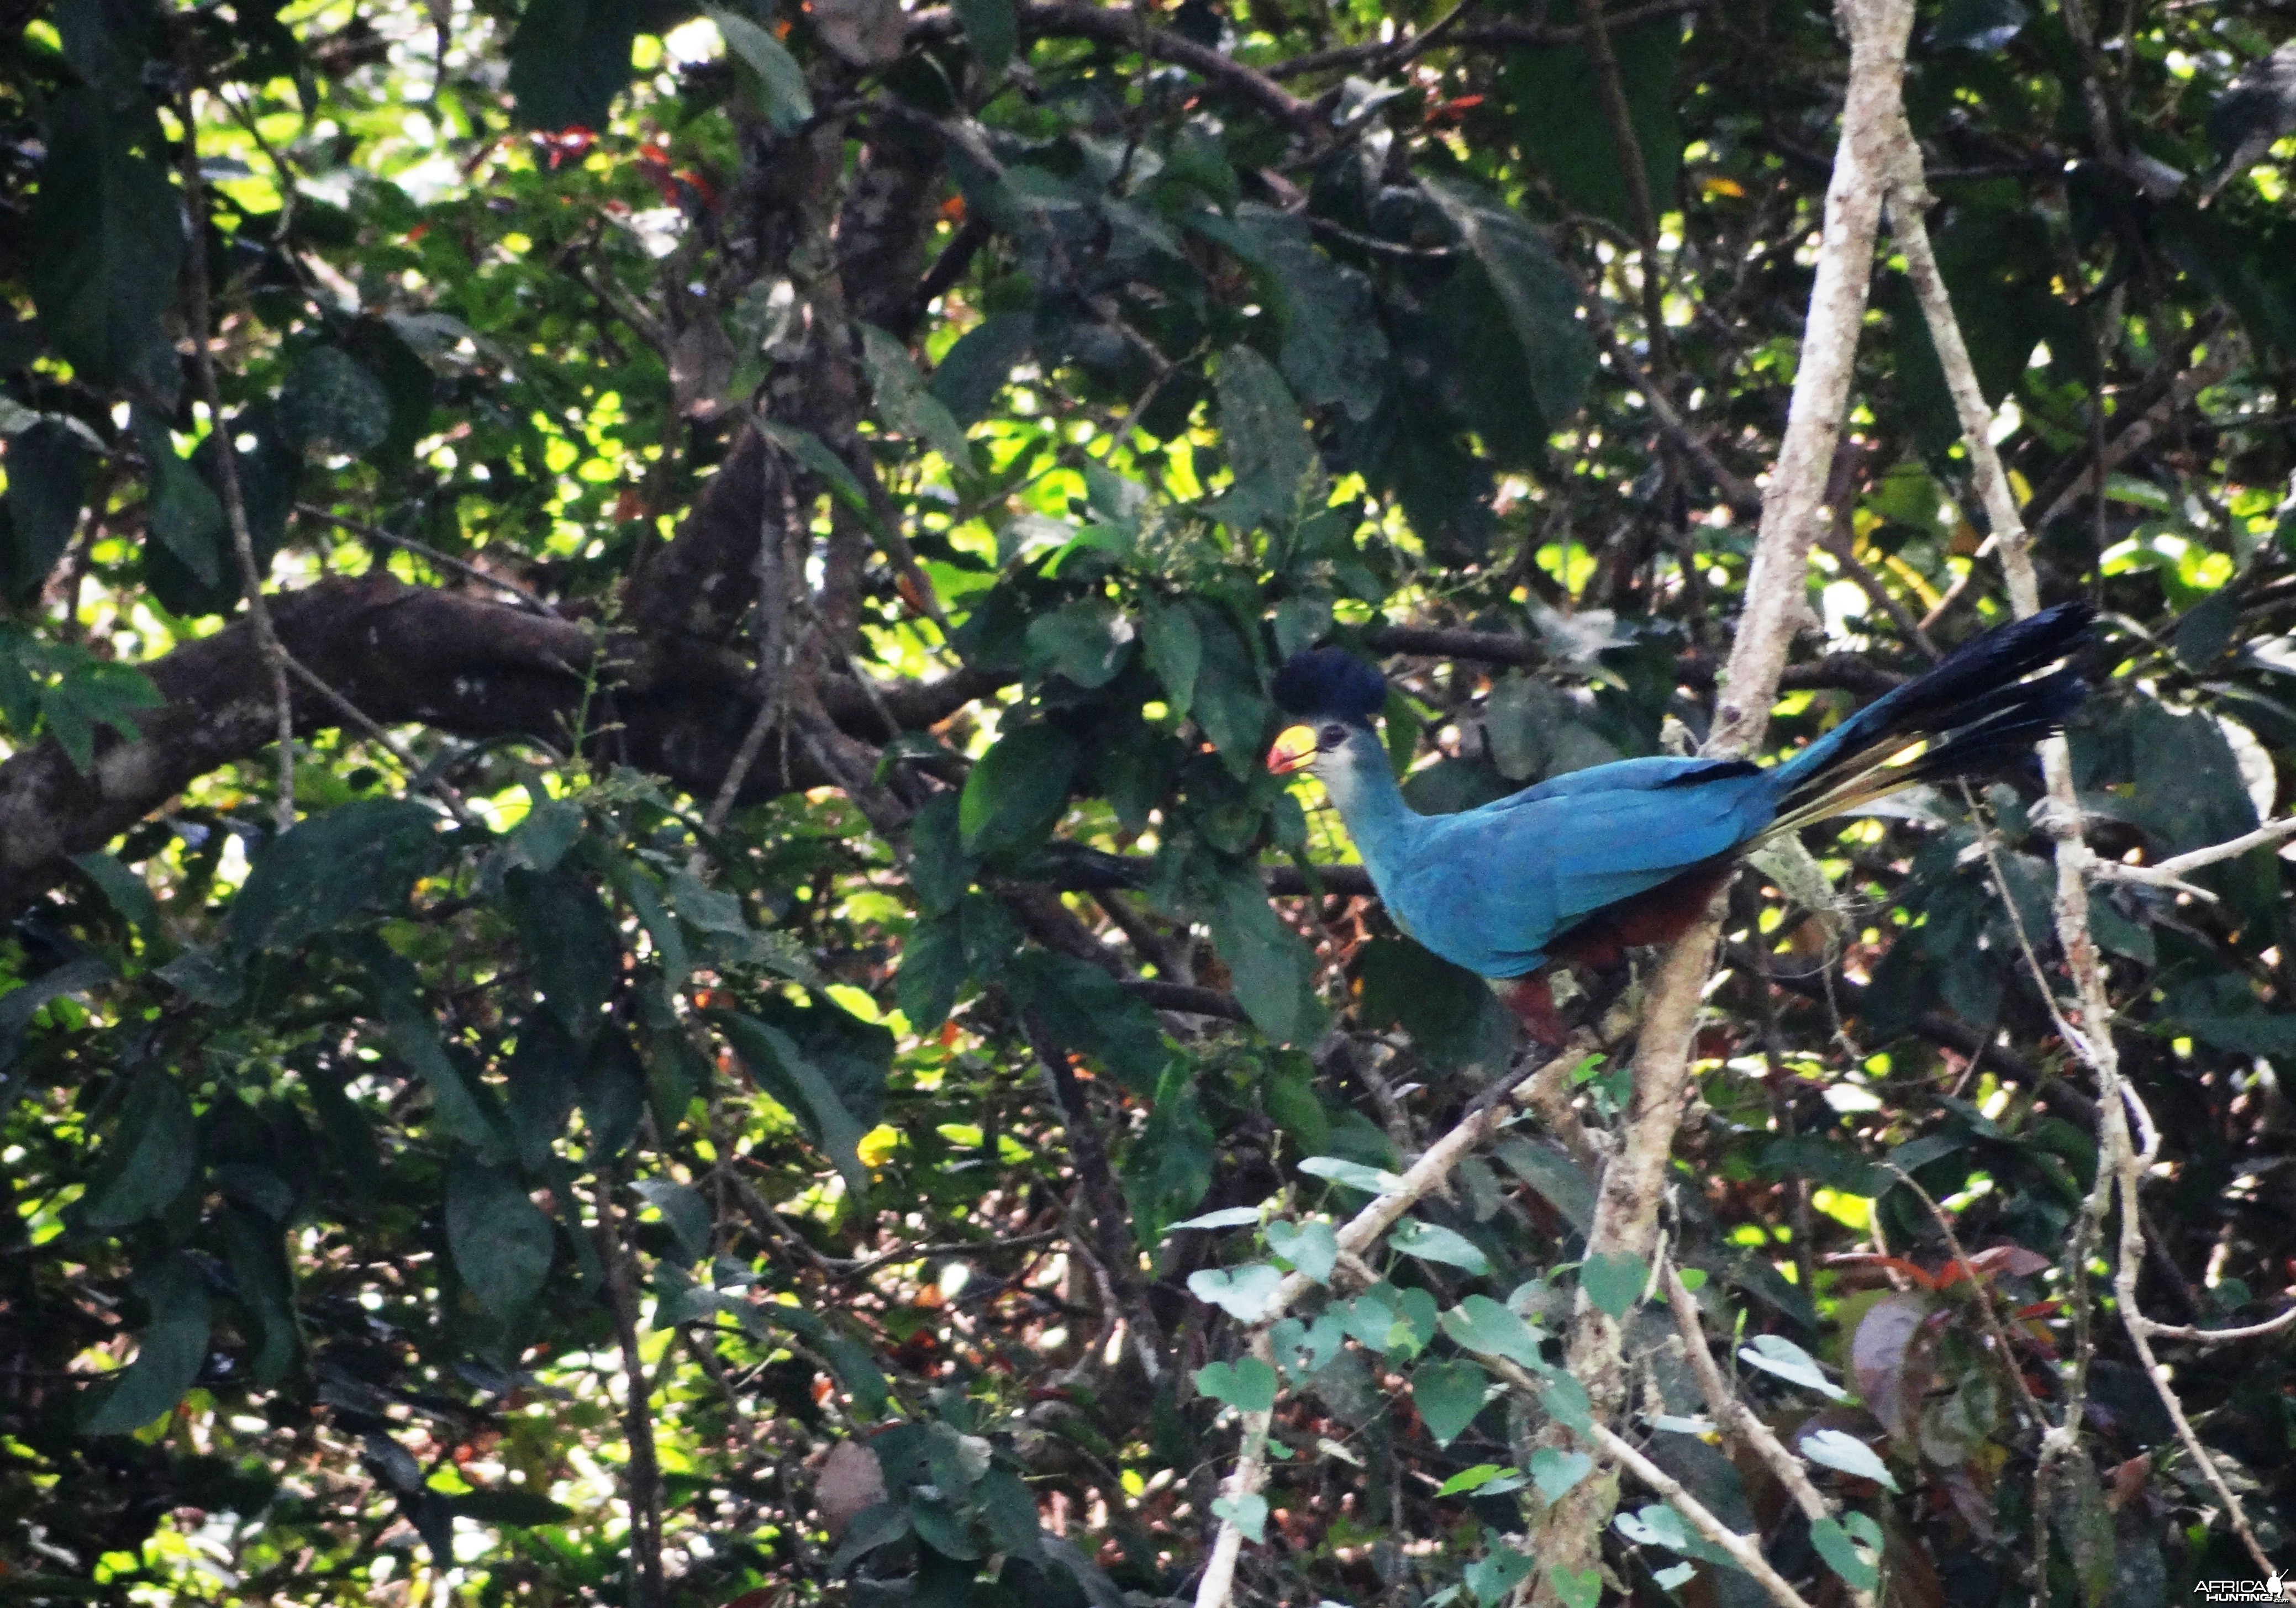
M360 912L395 912L443 857L439 815L411 799L358 799L301 820L255 857L225 917L230 944L241 956L292 951Z

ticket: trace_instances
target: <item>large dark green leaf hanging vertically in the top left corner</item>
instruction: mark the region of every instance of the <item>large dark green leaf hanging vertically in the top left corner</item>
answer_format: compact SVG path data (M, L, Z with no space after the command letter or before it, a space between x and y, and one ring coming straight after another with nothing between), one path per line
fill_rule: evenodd
M154 161L158 124L149 110L115 115L90 87L55 92L46 110L48 154L21 234L41 331L83 381L126 381L154 347L174 363L158 317L184 264L184 207Z

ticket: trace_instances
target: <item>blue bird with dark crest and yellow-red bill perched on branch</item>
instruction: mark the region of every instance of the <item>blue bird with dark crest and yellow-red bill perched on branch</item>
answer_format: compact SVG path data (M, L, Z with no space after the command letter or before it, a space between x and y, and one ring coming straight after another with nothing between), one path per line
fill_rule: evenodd
M2076 652L2092 618L2073 602L1986 632L1779 765L1616 760L1456 815L1403 802L1371 728L1387 678L1316 648L1277 673L1277 703L1300 724L1267 770L1313 772L1394 923L1490 979L1554 1045L1548 960L1616 967L1632 944L1678 937L1763 838L2014 760L2087 696L2073 668L2039 671Z

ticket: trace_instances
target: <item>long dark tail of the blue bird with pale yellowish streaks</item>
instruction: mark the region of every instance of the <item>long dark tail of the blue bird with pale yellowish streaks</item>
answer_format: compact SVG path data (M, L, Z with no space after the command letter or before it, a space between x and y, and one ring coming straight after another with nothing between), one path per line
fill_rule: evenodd
M1963 643L1876 698L1777 767L1782 799L1763 836L2018 758L2089 696L2071 668L2034 671L2078 650L2094 618L2080 602L2043 609Z

